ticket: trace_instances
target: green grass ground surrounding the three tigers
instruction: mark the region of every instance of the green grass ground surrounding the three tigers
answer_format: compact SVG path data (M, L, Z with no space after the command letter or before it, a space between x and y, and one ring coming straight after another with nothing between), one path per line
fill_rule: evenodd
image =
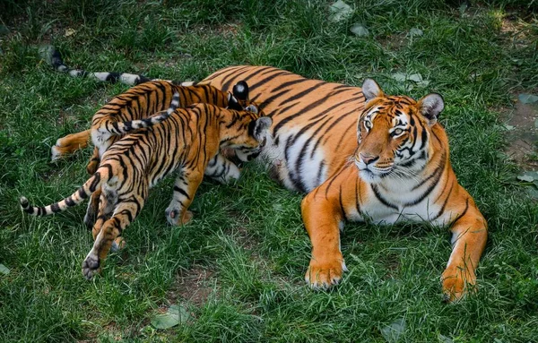
M0 36L0 263L11 272L0 274L0 341L379 342L399 319L400 341L536 341L538 206L514 181L499 125L516 92L538 90L536 4L471 3L462 13L458 2L362 0L334 23L324 1L2 2L0 25L10 31ZM507 21L516 31L503 29ZM354 22L370 36L354 37ZM423 35L409 37L412 28ZM17 199L53 202L82 184L91 151L50 163L49 148L126 86L53 72L39 58L43 43L91 71L201 80L231 64L270 64L357 86L373 77L417 98L438 91L456 175L490 225L478 292L441 302L447 231L356 223L343 232L343 284L310 291L301 194L255 165L238 184L204 182L184 227L166 225L171 180L162 183L126 230L126 249L87 282L84 207L32 219ZM397 72L430 84L410 89ZM209 276L188 288L196 270ZM192 287L208 296L188 302ZM190 319L153 329L169 304Z

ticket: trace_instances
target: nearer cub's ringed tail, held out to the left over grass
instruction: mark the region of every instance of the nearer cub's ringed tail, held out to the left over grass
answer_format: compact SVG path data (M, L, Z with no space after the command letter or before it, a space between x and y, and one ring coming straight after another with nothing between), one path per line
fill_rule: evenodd
M106 175L106 177L101 177L102 175ZM30 205L30 202L28 202L28 199L24 196L19 199L19 202L21 203L22 210L31 216L48 216L50 214L67 210L68 208L74 207L83 202L85 199L90 197L91 193L95 192L95 190L100 187L101 184L107 182L110 177L111 176L108 175L108 167L100 168L88 179L88 181L86 181L85 184L82 184L82 186L75 193L71 194L61 202L55 202L48 206L32 206Z

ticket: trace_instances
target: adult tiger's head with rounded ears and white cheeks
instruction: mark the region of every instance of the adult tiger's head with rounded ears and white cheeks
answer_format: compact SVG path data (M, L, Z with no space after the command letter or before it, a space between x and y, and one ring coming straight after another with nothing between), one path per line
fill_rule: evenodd
M443 98L437 93L418 101L387 96L371 79L364 81L362 92L366 105L357 124L354 156L360 177L369 183L414 177L430 158L431 127L445 107Z

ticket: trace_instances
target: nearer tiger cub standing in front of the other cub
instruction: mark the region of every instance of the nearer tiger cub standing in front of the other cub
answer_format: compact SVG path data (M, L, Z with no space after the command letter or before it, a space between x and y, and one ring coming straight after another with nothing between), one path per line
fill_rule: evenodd
M117 122L118 134L128 133L106 150L97 171L82 187L61 202L34 207L25 197L22 210L46 216L87 199L100 190L97 220L92 228L93 248L82 262L82 274L91 279L100 270L112 244L143 209L149 189L178 170L174 194L165 213L172 225L187 223L188 210L204 171L221 148L260 150L272 124L254 105L237 111L196 104L178 108L180 96L171 100L167 112L146 119ZM132 131L145 127L143 130ZM116 242L115 242L116 241Z

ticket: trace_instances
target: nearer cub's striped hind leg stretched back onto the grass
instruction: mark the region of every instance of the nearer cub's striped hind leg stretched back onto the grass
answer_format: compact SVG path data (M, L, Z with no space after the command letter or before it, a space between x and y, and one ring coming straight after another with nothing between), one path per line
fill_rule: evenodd
M132 199L117 204L112 218L106 220L100 229L93 230L97 233L95 242L90 253L82 262L82 274L86 279L91 279L100 271L102 262L107 258L112 244L121 235L123 230L136 218L142 210L144 199L142 196L134 195Z

